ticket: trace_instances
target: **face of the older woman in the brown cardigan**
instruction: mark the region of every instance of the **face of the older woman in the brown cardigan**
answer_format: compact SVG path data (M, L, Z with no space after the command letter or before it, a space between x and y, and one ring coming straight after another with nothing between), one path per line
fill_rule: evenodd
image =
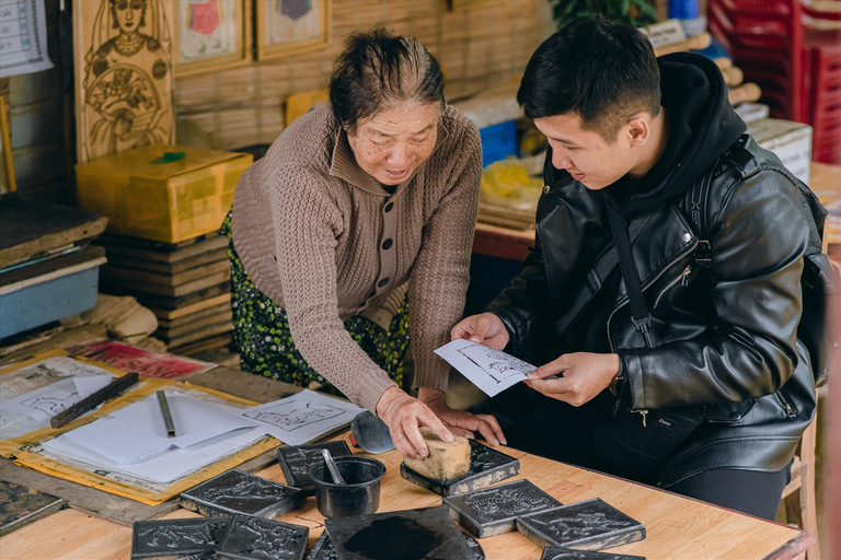
M433 153L438 105L405 102L360 120L347 135L356 163L383 185L399 185Z

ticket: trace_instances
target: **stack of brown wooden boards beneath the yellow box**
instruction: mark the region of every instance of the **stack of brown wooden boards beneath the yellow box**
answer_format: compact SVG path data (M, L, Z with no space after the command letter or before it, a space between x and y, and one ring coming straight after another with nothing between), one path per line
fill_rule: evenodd
M102 290L134 295L158 317L169 350L195 354L232 340L228 240L218 233L169 244L103 235Z

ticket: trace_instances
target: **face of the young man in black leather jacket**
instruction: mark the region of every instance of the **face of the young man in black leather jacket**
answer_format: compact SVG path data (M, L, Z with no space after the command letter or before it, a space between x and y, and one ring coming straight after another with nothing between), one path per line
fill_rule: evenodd
M599 190L622 178L636 165L636 153L623 126L613 143L598 132L581 129L577 113L534 119L552 147L552 164L566 170L590 190Z

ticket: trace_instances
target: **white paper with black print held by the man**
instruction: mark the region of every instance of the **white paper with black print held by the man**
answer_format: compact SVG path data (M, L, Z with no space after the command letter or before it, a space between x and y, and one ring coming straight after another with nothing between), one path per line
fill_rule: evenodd
M537 370L528 362L502 350L494 350L470 340L453 340L435 351L461 372L488 397L494 397L511 385L526 380Z

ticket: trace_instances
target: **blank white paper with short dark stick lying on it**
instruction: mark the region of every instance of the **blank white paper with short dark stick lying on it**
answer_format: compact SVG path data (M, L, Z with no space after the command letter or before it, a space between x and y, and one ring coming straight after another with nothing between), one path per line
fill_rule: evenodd
M76 444L116 464L134 463L170 447L189 447L219 435L253 428L256 422L211 402L166 392L176 436L168 438L154 395L65 434Z

